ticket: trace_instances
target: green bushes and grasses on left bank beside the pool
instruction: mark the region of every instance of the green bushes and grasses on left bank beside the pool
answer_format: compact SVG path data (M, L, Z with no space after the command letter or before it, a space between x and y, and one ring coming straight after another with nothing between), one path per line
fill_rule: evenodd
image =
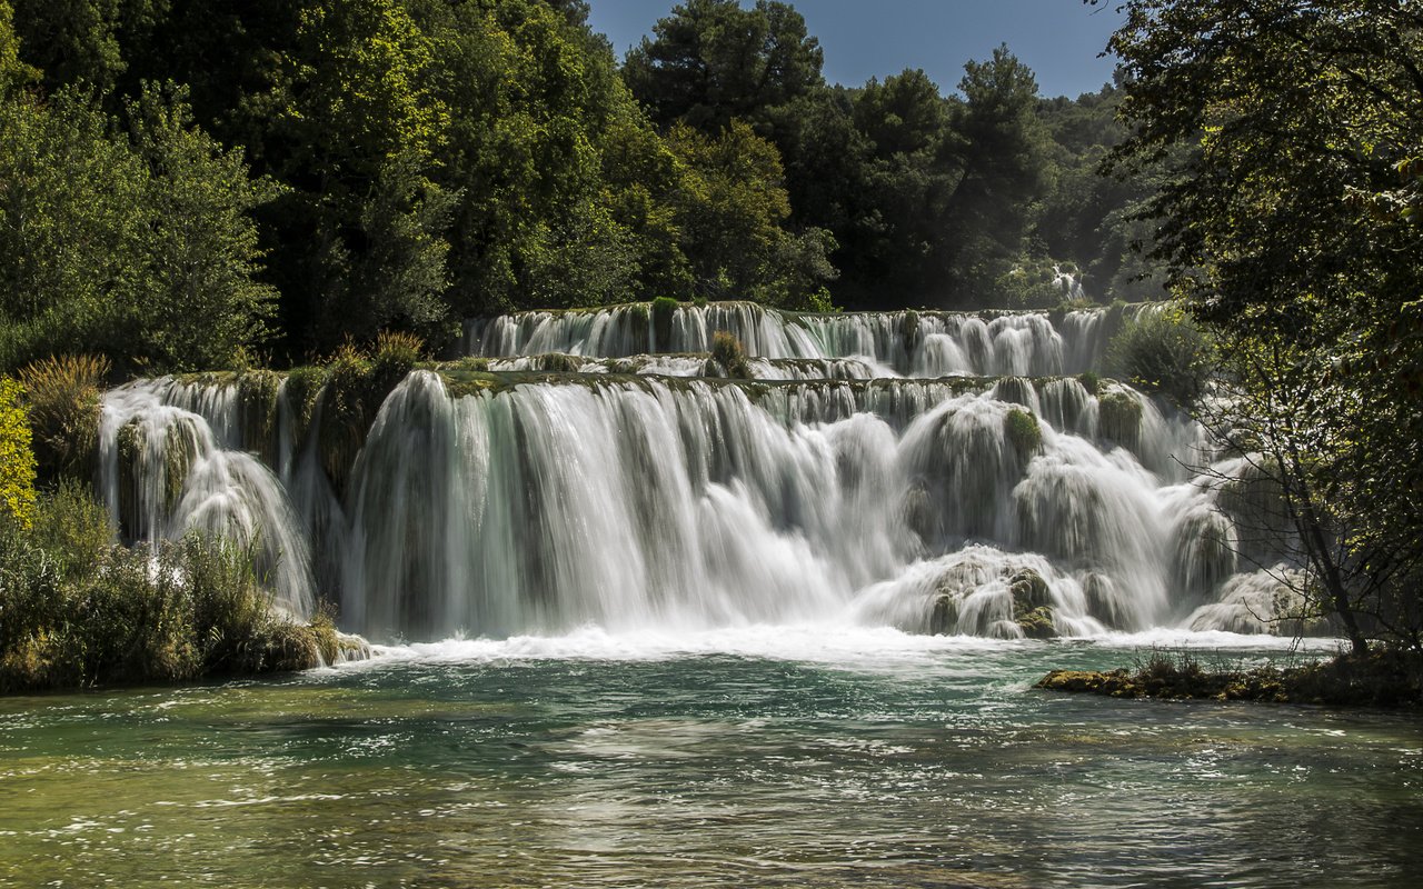
M0 691L303 670L337 657L327 616L272 610L250 553L189 536L112 543L83 485L41 498L31 528L0 516Z

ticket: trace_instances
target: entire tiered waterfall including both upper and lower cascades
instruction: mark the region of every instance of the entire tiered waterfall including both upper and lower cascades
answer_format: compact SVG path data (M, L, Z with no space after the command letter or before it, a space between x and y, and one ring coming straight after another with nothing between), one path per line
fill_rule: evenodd
M139 381L105 401L104 491L131 538L256 541L282 606L334 597L377 640L1268 629L1231 467L1185 469L1200 430L1140 393L1054 376L1096 366L1106 313L712 304L676 312L672 354L638 351L646 307L494 319L467 337L481 385L470 360L411 373L350 455L285 383L255 411L242 380ZM702 378L717 329L757 381Z

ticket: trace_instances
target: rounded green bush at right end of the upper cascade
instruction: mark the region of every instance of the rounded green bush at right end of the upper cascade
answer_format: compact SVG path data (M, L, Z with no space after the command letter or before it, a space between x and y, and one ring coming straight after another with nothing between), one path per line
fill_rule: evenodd
M1184 408L1204 394L1212 367L1210 340L1174 306L1143 310L1107 346L1107 368L1113 376Z

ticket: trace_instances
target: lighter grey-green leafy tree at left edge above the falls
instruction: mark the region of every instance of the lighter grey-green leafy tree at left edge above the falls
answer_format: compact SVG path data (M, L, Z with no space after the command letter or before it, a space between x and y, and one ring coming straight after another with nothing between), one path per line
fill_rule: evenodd
M71 91L0 101L0 366L209 367L263 336L248 211L270 185L191 125L181 91L151 90L129 121Z

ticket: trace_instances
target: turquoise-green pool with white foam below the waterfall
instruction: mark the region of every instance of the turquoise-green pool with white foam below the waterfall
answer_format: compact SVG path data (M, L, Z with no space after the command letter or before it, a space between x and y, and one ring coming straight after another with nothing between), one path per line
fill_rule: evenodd
M0 885L1423 879L1417 717L1029 688L1153 642L586 632L3 698Z

